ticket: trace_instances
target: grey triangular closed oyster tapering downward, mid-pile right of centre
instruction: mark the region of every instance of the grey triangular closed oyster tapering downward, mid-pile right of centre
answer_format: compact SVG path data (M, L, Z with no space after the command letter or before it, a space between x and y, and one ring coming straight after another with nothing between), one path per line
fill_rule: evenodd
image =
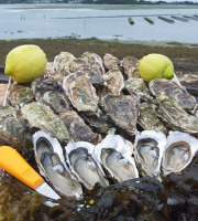
M114 124L130 134L136 134L139 98L136 95L113 96L107 94L102 106Z

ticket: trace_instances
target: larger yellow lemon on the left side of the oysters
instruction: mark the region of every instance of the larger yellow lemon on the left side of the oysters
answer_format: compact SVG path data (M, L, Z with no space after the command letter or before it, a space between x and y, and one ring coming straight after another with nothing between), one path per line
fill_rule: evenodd
M40 46L25 44L9 52L4 73L15 82L30 83L44 73L46 63L46 55Z

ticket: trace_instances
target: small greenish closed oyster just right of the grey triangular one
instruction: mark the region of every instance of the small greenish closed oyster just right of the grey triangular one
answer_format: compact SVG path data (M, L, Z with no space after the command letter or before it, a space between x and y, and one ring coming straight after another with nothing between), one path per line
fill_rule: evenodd
M157 106L148 103L140 104L140 115L138 119L141 127L145 130L162 131L167 135L167 128L158 118Z

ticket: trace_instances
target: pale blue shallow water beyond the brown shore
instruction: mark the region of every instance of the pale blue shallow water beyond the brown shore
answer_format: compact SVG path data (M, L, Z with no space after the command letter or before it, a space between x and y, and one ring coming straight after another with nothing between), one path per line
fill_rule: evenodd
M31 4L32 7L32 4ZM37 7L37 8L36 8ZM198 21L177 21L167 23L154 14L198 14L198 8L191 9L130 9L101 10L97 6L85 8L42 8L34 4L0 6L0 39L32 38L97 38L122 41L176 41L198 43ZM143 17L154 15L150 24ZM89 17L89 18L87 18ZM90 18L91 17L91 18ZM113 17L113 18L97 18ZM118 18L114 18L118 17ZM132 17L134 25L128 21ZM79 18L79 19L76 19ZM170 18L170 15L166 15Z

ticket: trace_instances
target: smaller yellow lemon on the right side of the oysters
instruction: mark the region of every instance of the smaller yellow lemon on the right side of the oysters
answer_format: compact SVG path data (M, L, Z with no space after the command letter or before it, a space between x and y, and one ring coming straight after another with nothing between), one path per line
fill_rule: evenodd
M155 78L173 78L174 65L163 54L148 54L139 61L139 73L145 82Z

